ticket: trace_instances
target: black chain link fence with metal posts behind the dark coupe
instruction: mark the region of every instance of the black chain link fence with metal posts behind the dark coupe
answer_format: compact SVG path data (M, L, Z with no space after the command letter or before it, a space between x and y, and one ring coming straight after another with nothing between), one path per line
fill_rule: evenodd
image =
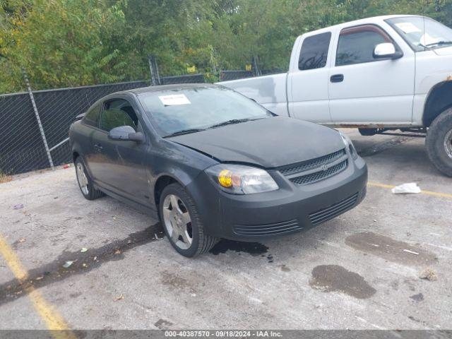
M275 73L262 71L262 74ZM220 71L220 81L256 76L253 71ZM157 85L204 83L203 74L158 76ZM78 88L36 90L0 95L0 174L18 174L72 161L69 126L96 100L121 90L150 85L133 81ZM35 101L35 107L32 105ZM40 129L42 126L42 131ZM49 153L45 146L47 142Z

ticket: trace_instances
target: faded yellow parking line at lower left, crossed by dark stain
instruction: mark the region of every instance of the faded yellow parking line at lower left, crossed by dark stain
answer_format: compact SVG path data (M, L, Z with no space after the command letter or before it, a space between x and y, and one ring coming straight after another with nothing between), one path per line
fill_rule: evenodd
M25 282L28 278L28 272L20 263L18 256L11 249L6 239L0 233L0 254L4 257L6 264L13 272L14 276L20 282ZM49 304L42 294L35 290L34 287L29 286L25 287L25 292L28 293L28 297L35 307L37 314L41 317L41 319L46 324L46 327L49 330L52 330L51 334L56 339L63 338L73 338L76 339L76 335L74 335L69 326L67 325L64 318L57 312L51 304Z

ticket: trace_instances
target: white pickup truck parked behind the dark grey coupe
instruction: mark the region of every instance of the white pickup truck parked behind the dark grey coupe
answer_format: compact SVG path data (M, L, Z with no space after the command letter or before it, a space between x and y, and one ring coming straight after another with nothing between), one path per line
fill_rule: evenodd
M379 16L297 37L287 73L221 85L276 114L363 135L427 133L452 176L452 30L422 16Z

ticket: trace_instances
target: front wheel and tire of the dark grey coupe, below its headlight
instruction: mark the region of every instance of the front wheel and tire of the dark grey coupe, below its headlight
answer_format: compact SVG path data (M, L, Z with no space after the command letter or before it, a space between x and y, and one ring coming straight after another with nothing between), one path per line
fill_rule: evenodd
M159 213L169 243L182 256L193 258L206 253L218 242L206 234L195 202L179 184L163 189Z

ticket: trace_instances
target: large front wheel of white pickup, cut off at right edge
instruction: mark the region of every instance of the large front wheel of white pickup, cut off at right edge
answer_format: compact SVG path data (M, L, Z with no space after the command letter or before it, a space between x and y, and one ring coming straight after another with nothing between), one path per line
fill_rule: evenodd
M427 154L440 172L452 177L452 108L439 114L425 139Z

